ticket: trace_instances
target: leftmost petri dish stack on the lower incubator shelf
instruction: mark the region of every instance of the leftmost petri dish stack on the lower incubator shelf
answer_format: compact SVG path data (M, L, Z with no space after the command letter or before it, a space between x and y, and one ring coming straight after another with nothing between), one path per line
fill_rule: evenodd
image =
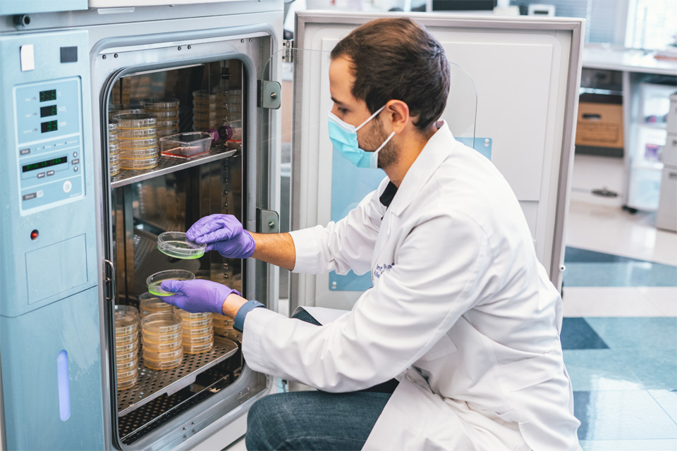
M138 381L139 320L116 308L115 359L118 390L132 387Z

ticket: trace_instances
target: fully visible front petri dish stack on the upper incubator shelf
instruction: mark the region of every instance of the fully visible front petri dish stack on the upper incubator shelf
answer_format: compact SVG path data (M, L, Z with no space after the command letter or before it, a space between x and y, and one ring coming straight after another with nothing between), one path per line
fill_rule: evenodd
M123 169L150 169L157 166L157 118L147 113L115 116L118 146Z

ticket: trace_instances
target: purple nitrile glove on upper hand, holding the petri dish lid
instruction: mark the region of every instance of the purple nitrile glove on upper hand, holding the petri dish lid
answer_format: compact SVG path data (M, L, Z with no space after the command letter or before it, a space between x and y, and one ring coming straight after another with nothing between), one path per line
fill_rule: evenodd
M185 236L200 244L207 243L206 251L218 251L229 259L248 259L256 246L252 235L243 230L240 221L231 214L210 214L200 218Z

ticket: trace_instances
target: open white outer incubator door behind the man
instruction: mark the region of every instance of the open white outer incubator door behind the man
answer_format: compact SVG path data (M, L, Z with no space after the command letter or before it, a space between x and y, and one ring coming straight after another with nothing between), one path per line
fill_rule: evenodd
M291 153L291 230L338 221L385 176L351 166L334 152L327 131L329 52L355 27L382 16L298 13L293 42L298 49L283 50L269 62L266 73L281 81L282 101L280 110L264 114L282 137L281 154ZM441 42L451 62L441 118L456 140L487 156L508 180L537 256L559 287L581 20L406 16ZM368 274L293 274L290 311L298 305L350 309L370 286Z

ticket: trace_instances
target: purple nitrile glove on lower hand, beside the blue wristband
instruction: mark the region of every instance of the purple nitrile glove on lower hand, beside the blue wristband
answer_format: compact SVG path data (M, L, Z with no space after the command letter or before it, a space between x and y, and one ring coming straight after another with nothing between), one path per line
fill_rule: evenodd
M238 290L212 282L212 280L164 280L160 288L176 295L163 297L167 304L176 305L179 309L190 313L211 311L224 314L224 301L231 293L242 296Z

